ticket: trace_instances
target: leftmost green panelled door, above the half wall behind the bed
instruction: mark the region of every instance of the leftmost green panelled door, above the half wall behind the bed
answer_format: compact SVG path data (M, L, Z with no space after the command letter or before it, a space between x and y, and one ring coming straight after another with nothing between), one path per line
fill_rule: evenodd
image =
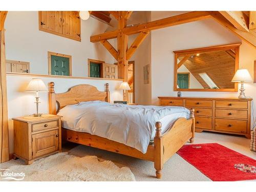
M69 58L51 55L52 75L69 76Z

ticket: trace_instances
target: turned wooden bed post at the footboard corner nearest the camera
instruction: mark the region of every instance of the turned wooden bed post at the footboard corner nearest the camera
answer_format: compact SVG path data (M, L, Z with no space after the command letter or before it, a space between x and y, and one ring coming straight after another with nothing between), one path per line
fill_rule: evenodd
M156 122L156 136L154 139L154 166L156 169L156 176L158 179L161 179L162 173L161 170L163 168L163 142L162 142L162 133L161 133L162 123Z

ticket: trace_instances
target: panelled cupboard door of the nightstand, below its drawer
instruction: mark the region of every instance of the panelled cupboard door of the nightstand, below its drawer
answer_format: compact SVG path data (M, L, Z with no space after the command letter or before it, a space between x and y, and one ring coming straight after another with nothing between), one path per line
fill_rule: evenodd
M32 135L32 158L57 151L58 143L58 130Z

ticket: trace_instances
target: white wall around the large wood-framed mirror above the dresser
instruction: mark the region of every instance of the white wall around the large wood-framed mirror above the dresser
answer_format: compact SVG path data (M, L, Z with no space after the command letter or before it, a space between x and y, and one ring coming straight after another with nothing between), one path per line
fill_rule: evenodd
M180 14L181 12L151 13L151 20ZM175 50L208 47L242 42L240 46L239 67L246 68L253 78L253 62L256 49L242 41L232 32L222 27L213 19L200 20L154 30L151 33L152 59L152 104L158 104L158 96L177 96L173 91L174 53ZM245 93L256 100L256 83L245 83ZM238 97L238 92L182 92L182 96L199 97ZM254 117L256 104L253 104Z

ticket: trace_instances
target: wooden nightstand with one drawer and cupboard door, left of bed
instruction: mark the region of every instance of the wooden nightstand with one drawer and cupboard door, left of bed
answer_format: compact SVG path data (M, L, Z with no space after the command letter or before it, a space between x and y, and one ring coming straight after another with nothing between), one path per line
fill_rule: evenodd
M44 114L41 117L24 116L13 119L13 159L27 164L45 156L61 152L61 116Z

